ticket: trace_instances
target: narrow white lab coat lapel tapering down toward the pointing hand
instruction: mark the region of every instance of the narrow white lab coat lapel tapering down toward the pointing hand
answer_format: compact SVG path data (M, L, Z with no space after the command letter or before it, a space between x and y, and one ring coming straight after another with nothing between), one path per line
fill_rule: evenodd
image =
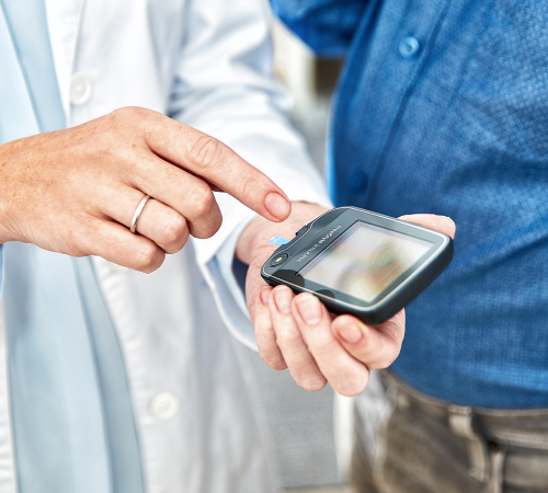
M62 108L70 122L70 81L82 22L84 0L45 0L47 26Z

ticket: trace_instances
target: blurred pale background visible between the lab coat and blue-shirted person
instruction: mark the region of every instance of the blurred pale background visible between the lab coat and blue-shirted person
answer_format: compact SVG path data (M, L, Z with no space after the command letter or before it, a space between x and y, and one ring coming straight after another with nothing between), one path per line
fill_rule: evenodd
M274 22L274 70L294 98L292 121L323 172L326 129L340 60L313 54L281 23ZM288 370L269 368L259 354L244 351L258 383L285 492L351 493L338 463L333 436L333 391L300 389Z

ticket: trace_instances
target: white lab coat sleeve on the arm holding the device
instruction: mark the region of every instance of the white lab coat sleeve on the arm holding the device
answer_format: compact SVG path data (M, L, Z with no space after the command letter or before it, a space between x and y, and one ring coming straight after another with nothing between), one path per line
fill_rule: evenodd
M266 2L193 0L189 5L169 115L227 144L292 200L329 207L322 180L287 121L288 98L271 77ZM237 237L253 215L229 195L216 195L222 226L212 239L194 240L197 262L225 322L240 340L254 345L231 270Z

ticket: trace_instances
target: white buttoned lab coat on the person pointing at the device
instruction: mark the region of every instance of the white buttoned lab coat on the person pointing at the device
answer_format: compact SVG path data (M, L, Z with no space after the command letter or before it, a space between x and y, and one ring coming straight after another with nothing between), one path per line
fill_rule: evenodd
M121 106L152 108L225 141L292 199L329 204L270 78L262 0L45 3L69 126ZM0 10L0 49L13 51L1 18ZM10 70L12 82L21 80L10 91L24 91L16 66ZM30 101L19 114L16 137L37 133ZM241 312L233 317L241 294L226 285L215 256L250 213L226 195L219 203L221 230L169 255L151 275L94 261L126 362L148 493L277 490L238 343L214 302L232 333L252 346L250 322ZM0 493L13 493L3 342L0 349Z

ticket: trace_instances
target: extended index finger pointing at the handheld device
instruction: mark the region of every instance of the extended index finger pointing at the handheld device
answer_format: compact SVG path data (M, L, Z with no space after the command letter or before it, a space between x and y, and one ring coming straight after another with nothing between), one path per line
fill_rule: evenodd
M203 177L272 221L289 216L290 203L264 173L219 140L158 114L146 133L150 149L173 164Z

